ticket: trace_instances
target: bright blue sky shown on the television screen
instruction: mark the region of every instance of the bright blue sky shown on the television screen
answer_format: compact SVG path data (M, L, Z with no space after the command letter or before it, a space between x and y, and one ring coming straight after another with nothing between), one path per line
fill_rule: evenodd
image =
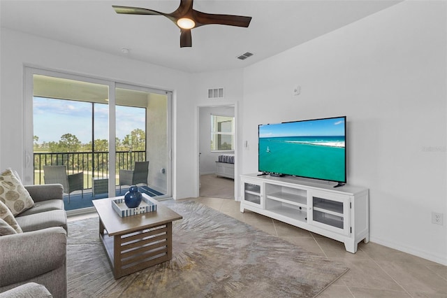
M280 136L343 136L344 118L261 125L260 138Z

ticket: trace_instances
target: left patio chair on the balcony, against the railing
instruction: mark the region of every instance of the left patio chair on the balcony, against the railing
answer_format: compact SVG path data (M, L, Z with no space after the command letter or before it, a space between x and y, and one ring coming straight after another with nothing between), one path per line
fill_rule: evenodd
M43 180L45 184L61 184L64 192L68 194L68 204L70 194L75 190L80 190L84 197L84 172L68 175L66 166L43 166Z

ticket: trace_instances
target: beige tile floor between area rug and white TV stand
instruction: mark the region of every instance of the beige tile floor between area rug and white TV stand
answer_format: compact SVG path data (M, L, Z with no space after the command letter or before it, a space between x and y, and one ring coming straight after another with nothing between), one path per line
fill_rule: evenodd
M349 267L344 276L318 297L447 297L447 267L441 264L372 242L360 243L357 253L348 253L338 241L251 211L241 213L240 202L219 198L218 190L214 197L191 200ZM79 218L78 215L75 219Z

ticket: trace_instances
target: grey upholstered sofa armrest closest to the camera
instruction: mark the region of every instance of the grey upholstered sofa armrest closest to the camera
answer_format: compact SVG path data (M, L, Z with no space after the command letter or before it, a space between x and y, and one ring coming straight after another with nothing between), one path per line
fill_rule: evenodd
M29 281L66 264L67 236L49 227L0 237L0 287Z

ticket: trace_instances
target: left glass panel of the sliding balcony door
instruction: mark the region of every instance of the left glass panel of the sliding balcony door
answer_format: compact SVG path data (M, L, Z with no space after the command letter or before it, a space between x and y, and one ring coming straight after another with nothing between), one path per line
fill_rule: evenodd
M93 194L94 178L108 177L109 87L43 74L32 80L34 184L50 183L45 171L48 176L52 166L65 166L67 177L58 183L66 210L91 207L84 197ZM107 188L102 193L107 197Z

